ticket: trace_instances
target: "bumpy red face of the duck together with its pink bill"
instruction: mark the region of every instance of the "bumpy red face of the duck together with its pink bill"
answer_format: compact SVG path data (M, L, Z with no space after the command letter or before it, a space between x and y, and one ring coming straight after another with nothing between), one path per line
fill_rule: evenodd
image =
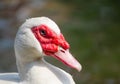
M79 62L69 53L69 44L60 33L56 34L52 29L46 25L40 25L32 28L36 39L39 41L44 54L53 56L64 64L80 71L81 66Z

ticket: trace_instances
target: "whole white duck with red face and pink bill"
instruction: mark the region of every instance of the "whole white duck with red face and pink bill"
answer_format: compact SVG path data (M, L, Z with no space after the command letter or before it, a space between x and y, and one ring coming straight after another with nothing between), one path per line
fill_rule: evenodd
M26 20L18 30L14 48L19 73L0 74L0 84L75 84L69 73L44 60L44 56L51 56L81 70L79 62L69 53L69 44L51 19Z

